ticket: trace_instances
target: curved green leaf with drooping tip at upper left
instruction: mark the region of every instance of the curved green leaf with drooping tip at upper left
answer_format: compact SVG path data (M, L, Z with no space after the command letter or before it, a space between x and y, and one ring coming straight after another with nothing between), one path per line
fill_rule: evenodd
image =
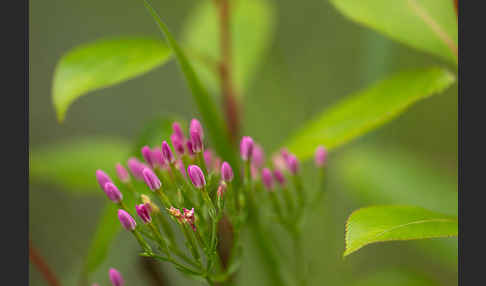
M76 47L56 67L52 100L62 122L80 96L146 73L169 60L171 51L160 40L123 37Z

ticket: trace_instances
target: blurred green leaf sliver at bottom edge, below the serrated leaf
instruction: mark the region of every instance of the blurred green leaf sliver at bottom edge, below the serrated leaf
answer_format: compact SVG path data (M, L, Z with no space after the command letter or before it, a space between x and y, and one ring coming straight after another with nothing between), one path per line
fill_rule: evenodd
M353 286L439 286L440 283L415 271L403 269L378 270L364 277L357 277Z

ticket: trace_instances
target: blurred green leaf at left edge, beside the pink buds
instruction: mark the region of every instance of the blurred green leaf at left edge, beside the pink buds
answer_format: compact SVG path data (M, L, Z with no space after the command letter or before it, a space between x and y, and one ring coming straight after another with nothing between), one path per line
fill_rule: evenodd
M130 144L115 138L78 138L52 143L30 152L30 177L78 194L103 194L95 171L115 177L115 164L128 158Z

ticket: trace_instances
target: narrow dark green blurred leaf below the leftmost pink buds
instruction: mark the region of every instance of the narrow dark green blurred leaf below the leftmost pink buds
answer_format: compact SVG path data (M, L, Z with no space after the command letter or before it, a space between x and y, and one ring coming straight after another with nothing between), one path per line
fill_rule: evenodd
M101 213L100 220L96 227L95 234L91 241L88 253L85 257L83 275L87 275L96 270L105 260L109 247L121 230L116 212L118 205L108 202Z

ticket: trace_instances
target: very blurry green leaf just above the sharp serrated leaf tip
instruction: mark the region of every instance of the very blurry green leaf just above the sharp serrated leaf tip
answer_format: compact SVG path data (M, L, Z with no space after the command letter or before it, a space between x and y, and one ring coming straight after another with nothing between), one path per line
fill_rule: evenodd
M457 176L405 150L350 149L339 154L333 170L361 204L407 204L457 215Z

